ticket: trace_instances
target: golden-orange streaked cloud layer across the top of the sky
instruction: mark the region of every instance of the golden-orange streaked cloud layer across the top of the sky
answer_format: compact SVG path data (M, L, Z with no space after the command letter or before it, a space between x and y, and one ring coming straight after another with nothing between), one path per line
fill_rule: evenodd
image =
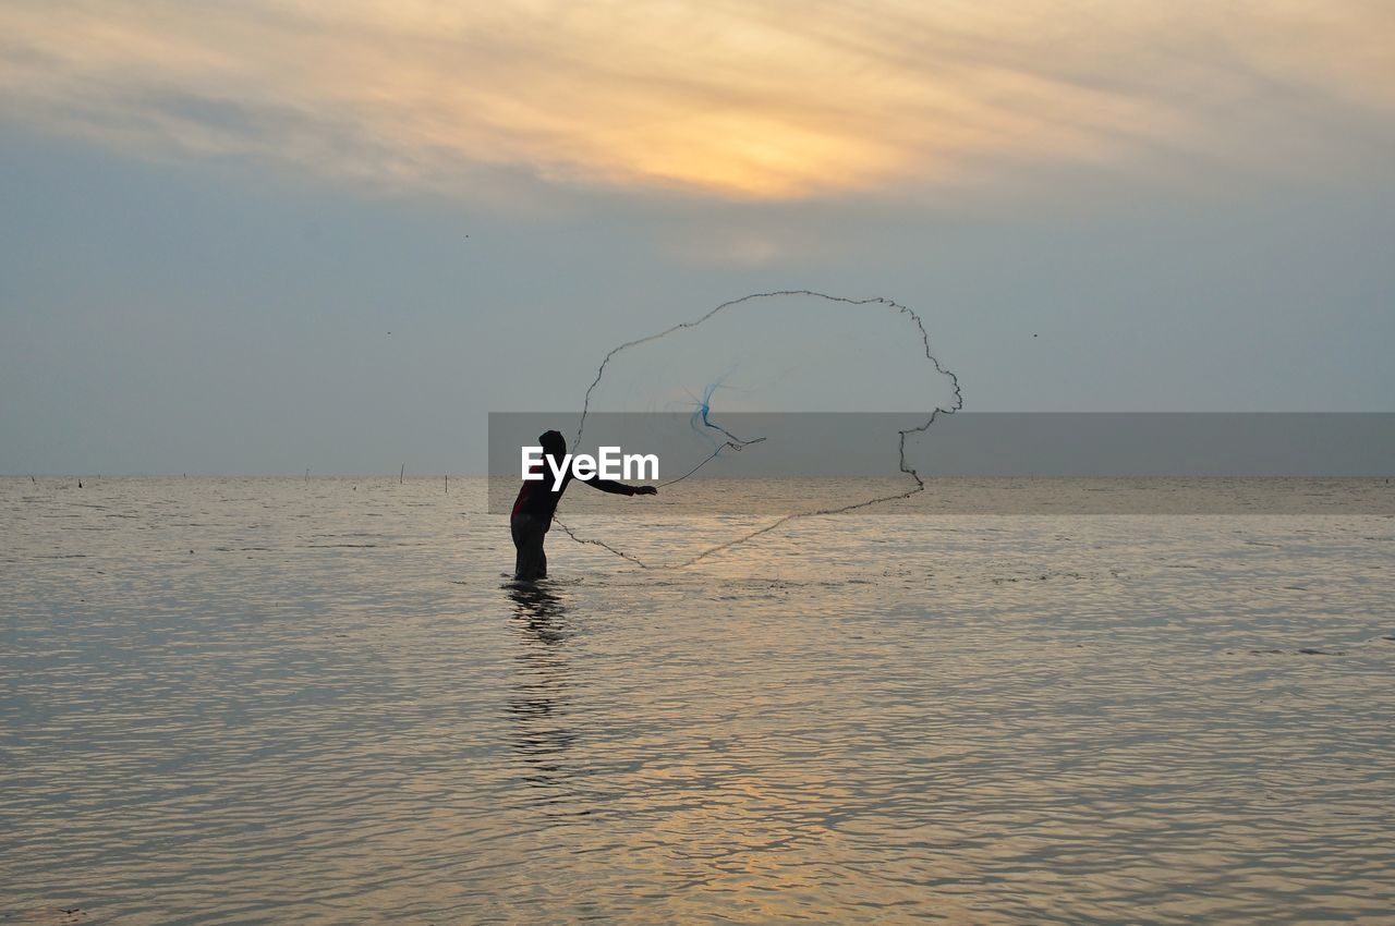
M1395 8L1366 0L11 0L0 35L0 117L466 197L519 172L798 199L1159 155L1304 169L1395 135Z

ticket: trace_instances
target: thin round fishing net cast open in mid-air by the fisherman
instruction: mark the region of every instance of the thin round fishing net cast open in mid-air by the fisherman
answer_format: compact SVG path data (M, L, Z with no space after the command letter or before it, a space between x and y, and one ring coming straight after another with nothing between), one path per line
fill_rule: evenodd
M930 428L961 406L911 308L809 290L745 296L601 358L572 448L657 448L660 495L624 516L557 524L644 568L769 542L798 519L921 492Z

